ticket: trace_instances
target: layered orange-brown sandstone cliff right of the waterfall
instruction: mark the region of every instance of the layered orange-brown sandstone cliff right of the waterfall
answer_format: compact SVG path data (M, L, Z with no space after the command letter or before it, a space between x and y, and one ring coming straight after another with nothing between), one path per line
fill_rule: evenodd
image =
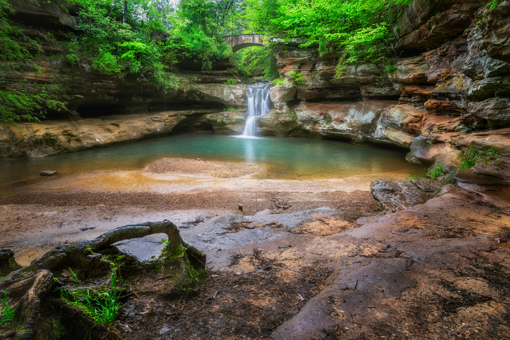
M396 26L405 57L391 66L347 65L335 75L340 53L279 53L280 74L292 83L300 72L305 84L271 90L275 110L261 118L261 132L391 143L411 149L411 163L457 168L469 147L459 141L506 135L498 129L510 122L510 2L486 5L413 3Z

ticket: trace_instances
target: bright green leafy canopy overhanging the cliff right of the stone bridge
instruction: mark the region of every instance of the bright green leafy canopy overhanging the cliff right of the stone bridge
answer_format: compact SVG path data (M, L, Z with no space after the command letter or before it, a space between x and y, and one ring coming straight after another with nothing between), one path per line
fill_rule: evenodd
M393 54L391 25L412 0L245 0L248 32L303 38L321 53L343 50L341 63L385 60ZM340 73L337 70L337 74Z

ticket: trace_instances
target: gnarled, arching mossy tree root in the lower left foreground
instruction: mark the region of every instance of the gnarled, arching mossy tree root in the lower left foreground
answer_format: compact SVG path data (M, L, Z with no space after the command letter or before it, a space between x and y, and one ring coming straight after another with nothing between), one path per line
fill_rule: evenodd
M0 334L0 338L15 337L20 340L28 340L33 337L41 299L50 292L55 281L54 273L60 273L60 271L72 267L81 271L81 277L111 276L113 274L112 263L103 258L100 254L101 250L111 248L114 243L119 241L143 238L157 233L165 233L168 236L168 242L163 249L164 255L160 260L163 264L177 268L170 289L165 293L171 295L182 290L192 289L197 283L196 273L205 269L206 257L183 241L175 224L165 220L119 227L105 232L91 241L58 246L34 260L29 266L15 270L8 276L0 277L0 294L4 296L5 292L9 298L16 300L11 308L19 312L21 319L20 326L17 325L16 329L12 331L3 332ZM2 251L0 250L0 255L2 255ZM101 281L103 281L103 285L109 282L109 280ZM61 303L63 303L62 307L66 305L63 300ZM67 304L67 308L76 309L77 307ZM77 313L77 310L73 311L74 313ZM93 323L83 311L81 314L85 324ZM99 325L98 330L101 334L100 337L117 338L115 332L109 331L104 325Z

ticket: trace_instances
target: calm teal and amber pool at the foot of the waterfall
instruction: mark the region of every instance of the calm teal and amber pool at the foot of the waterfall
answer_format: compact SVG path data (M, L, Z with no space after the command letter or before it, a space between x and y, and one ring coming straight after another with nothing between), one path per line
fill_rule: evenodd
M422 167L407 163L404 157L403 149L358 147L335 140L184 134L44 158L0 162L0 188L55 178L40 176L41 170L57 170L59 177L89 171L138 170L161 158L251 162L266 168L254 178L271 179L405 176L423 171Z

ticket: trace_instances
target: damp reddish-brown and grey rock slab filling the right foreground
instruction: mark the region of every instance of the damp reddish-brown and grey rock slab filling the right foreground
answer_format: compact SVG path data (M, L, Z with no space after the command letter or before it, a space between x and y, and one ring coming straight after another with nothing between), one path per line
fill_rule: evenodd
M295 213L294 221L306 222L317 213L335 209ZM281 215L286 220L292 214ZM198 238L209 231L205 244L223 238L225 231L231 239L221 249L203 250L213 270L211 280L166 323L154 315L125 319L134 329L125 334L135 338L167 329L176 338L208 337L230 329L247 338L370 338L392 332L433 339L457 327L464 337L504 337L509 298L500 290L505 292L509 255L506 243L494 240L506 232L509 218L507 210L453 186L425 204L363 218L361 226L329 236L296 234L264 221L237 231L242 216L218 216L195 227ZM488 222L494 224L487 228ZM494 270L499 274L488 276ZM242 319L252 313L257 317ZM483 321L484 313L498 327ZM262 326L270 320L273 326ZM151 330L145 322L160 326ZM210 328L195 327L200 323Z

